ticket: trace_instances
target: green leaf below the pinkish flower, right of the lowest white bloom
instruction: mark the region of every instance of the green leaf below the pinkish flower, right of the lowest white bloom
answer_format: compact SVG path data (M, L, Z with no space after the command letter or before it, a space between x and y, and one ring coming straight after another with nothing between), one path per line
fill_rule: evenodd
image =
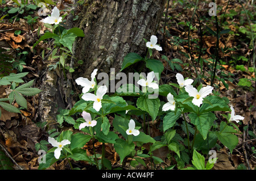
M90 136L89 134L82 134L82 133L76 133L71 136L71 150L75 148L82 148L86 142L90 141Z

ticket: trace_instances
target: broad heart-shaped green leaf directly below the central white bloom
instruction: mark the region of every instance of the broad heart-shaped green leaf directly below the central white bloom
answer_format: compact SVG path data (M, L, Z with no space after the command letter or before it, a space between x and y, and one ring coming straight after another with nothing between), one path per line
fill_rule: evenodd
M148 99L146 96L141 96L137 100L137 107L146 111L152 117L152 120L155 120L159 112L160 100L159 98Z

